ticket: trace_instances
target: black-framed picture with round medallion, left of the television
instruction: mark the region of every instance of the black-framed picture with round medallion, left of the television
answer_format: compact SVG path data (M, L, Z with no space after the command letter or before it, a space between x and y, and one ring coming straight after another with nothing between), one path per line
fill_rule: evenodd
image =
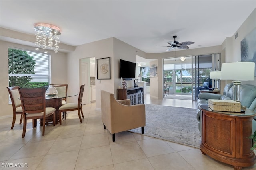
M110 57L97 59L97 79L110 78Z

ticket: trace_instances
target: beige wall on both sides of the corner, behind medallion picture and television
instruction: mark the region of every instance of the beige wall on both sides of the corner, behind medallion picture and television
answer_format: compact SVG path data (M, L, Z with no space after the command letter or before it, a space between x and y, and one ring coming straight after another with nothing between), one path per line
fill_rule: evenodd
M79 59L95 57L96 70L97 70L97 59L110 57L110 80L97 80L95 77L95 88L96 88L96 108L100 108L100 91L106 90L116 96L118 86L120 86L119 78L119 61L124 59L136 63L136 54L145 55L144 52L124 43L114 37L79 45L76 47L74 52L68 53L68 67L67 67L67 79L68 88L72 92L79 90ZM97 71L96 71L97 74ZM134 79L133 79L134 80ZM128 87L133 86L133 80L127 81ZM76 102L76 96L69 98L72 102Z

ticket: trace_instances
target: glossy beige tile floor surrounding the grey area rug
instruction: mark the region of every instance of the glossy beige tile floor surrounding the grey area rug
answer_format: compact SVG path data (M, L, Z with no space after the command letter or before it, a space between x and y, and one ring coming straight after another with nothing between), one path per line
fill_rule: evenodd
M145 104L195 108L190 100L156 100L145 96ZM22 138L22 124L17 116L14 129L12 118L0 120L1 170L232 170L201 153L200 149L164 141L144 135L122 132L112 135L104 130L100 111L95 103L83 106L83 122L76 111L68 112L67 119L53 127L32 129L27 125ZM27 166L24 168L9 166ZM22 164L23 163L23 164ZM255 170L253 167L243 168Z

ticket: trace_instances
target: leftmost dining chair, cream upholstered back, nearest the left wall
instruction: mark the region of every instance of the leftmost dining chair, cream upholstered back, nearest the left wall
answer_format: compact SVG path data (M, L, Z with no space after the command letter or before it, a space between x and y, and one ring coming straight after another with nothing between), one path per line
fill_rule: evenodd
M16 121L16 115L21 115L20 116L20 124L22 123L22 107L21 107L21 101L20 101L20 93L18 90L19 86L14 86L14 87L7 87L8 92L10 94L10 98L12 101L12 112L13 112L13 117L12 117L12 127L13 129L15 121Z

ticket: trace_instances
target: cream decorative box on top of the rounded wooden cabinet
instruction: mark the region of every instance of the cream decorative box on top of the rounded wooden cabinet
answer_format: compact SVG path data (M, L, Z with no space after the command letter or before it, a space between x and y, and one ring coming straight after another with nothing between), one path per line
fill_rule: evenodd
M209 99L208 107L213 111L241 112L240 102L234 100Z

